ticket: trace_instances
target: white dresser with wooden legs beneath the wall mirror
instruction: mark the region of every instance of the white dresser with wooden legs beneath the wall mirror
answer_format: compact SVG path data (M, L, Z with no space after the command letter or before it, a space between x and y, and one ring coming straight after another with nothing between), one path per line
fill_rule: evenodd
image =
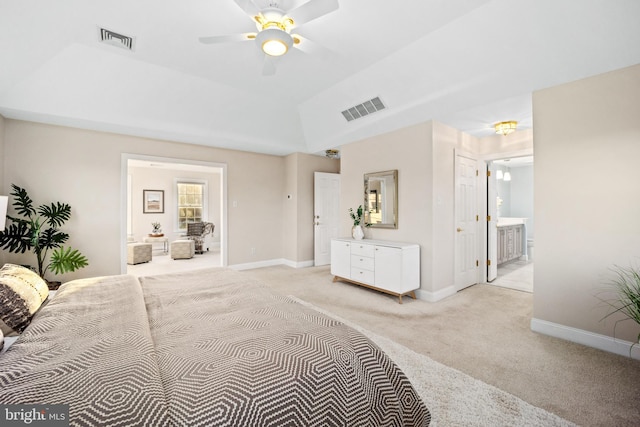
M420 246L386 240L331 240L333 281L343 280L398 297L416 298L420 287Z

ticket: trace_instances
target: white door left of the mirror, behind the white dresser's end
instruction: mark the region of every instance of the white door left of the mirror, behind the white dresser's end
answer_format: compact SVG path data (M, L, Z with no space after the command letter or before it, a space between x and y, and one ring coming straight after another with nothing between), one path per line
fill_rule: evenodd
M315 172L313 196L314 264L331 263L331 239L340 227L340 174Z

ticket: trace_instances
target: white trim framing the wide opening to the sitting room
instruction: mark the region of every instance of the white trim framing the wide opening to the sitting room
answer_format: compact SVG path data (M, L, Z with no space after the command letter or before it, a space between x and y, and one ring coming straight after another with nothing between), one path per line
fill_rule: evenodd
M129 192L129 160L143 160L157 163L193 165L217 168L221 170L220 194L222 199L222 210L220 212L220 226L216 226L220 230L220 252L222 267L228 265L228 225L227 225L227 164L216 162L205 162L199 160L179 159L172 157L148 156L143 154L122 153L120 158L120 271L122 274L127 272L127 222L129 202L127 194Z

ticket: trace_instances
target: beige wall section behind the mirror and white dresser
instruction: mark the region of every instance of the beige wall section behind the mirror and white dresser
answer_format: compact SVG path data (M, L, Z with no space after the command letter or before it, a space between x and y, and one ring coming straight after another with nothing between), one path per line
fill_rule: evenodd
M341 147L340 209L344 216L340 234L351 234L353 223L348 211L349 208L356 209L363 204L364 174L397 169L398 228L366 228L365 238L419 244L421 288L428 292L451 285L451 275L442 281L434 280L434 256L439 250L437 247L448 242L434 240L433 175L434 167L437 166L433 147L432 122ZM440 275L440 271L437 275Z

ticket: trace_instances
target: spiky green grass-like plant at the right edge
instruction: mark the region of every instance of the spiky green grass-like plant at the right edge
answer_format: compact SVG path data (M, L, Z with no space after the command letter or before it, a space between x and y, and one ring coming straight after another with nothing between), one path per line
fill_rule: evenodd
M624 319L618 322L633 320L640 325L640 270L634 267L625 268L620 266L614 266L612 270L615 273L615 277L610 285L616 293L616 298L600 298L611 307L611 311L602 320L620 313L624 316ZM618 322L616 322L616 325ZM631 354L636 344L640 344L640 333L636 338L636 342L631 345L629 354Z

